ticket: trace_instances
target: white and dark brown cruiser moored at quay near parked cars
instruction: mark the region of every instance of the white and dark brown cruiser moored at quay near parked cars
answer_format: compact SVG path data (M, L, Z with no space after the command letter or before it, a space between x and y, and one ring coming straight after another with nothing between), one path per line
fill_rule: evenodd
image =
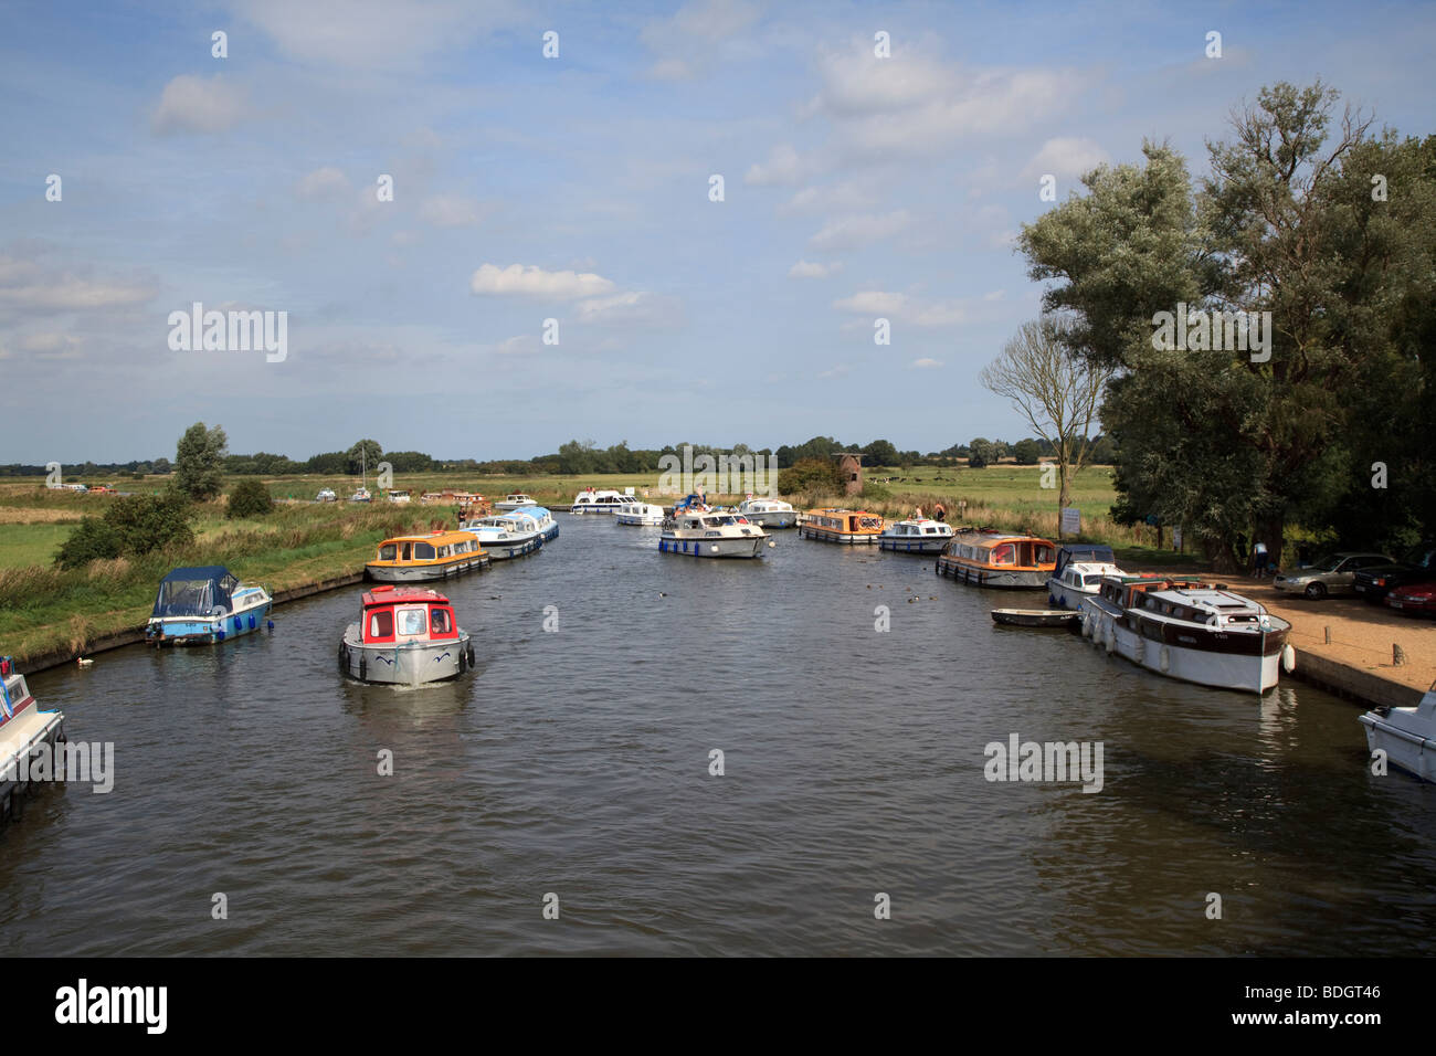
M1083 635L1109 654L1198 685L1259 694L1297 662L1291 624L1198 579L1103 576L1080 612Z

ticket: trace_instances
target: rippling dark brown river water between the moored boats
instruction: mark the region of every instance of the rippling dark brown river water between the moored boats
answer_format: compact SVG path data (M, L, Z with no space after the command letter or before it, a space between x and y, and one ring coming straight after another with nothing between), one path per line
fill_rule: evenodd
M931 559L778 533L707 562L656 537L564 517L541 553L449 583L478 668L441 685L340 678L359 588L220 648L34 675L72 737L115 741L116 784L47 789L0 833L11 948L1436 950L1436 787L1371 777L1353 704L995 628L1025 602ZM1103 790L988 783L1012 733L1101 741Z

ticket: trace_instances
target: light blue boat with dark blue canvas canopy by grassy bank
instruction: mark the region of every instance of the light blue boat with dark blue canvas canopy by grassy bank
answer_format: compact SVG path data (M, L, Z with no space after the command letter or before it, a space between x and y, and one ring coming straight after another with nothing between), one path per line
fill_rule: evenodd
M220 565L175 569L159 580L145 641L157 647L223 642L274 626L273 603L263 586L247 586Z

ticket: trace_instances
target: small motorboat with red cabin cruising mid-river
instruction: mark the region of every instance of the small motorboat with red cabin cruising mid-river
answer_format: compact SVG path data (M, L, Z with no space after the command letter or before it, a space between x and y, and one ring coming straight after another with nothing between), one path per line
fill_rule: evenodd
M339 644L339 670L365 682L422 685L474 667L474 642L444 595L412 586L376 586L363 595L358 624Z

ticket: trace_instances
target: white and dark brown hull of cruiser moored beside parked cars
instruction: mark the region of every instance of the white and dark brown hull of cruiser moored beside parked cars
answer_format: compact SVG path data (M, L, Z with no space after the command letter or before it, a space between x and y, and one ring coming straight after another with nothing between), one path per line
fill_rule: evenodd
M1222 648L1193 648L1137 634L1127 625L1126 613L1114 611L1100 598L1083 603L1081 618L1083 635L1091 638L1097 647L1167 678L1215 690L1258 694L1275 688L1281 678L1282 651L1288 634L1285 629L1271 631L1265 636L1211 632L1209 645ZM1178 634L1172 625L1163 625L1162 629L1169 636Z

